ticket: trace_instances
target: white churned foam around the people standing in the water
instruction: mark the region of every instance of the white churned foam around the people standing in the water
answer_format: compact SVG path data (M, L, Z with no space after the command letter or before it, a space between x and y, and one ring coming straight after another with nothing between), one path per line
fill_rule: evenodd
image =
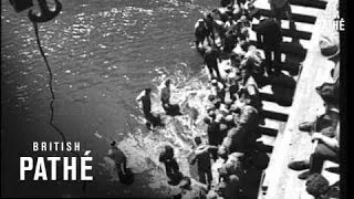
M186 63L179 65L186 67ZM131 132L118 143L118 147L127 156L127 166L133 172L149 176L148 187L158 189L159 192L170 192L175 191L174 189L176 188L170 188L167 184L165 166L158 161L159 154L165 145L173 146L180 171L185 176L190 176L188 157L192 153L194 137L206 136L206 125L202 123L202 118L206 115L210 90L207 83L201 82L199 77L189 78L180 70L177 70L173 75L166 67L157 67L155 72L159 75L153 80L157 91L153 90L152 93L152 112L163 113L162 118L166 126L148 130L145 126L146 119L143 114L131 114L131 117L140 125L131 126ZM167 77L173 78L174 83L171 86L171 103L181 105L187 101L189 106L199 112L198 125L192 130L189 128L189 116L187 114L175 117L164 114L159 96ZM181 106L181 112L185 112L184 106ZM115 170L113 161L105 159L105 164L111 170L112 180L116 180L116 172L112 171Z

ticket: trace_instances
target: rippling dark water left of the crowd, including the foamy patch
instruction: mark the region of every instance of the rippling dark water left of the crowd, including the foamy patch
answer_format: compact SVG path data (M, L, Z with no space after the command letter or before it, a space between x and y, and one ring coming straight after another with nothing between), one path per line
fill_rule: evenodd
M87 196L164 196L169 187L158 153L176 146L178 163L190 175L186 158L192 135L187 118L166 118L167 128L147 132L135 97L145 87L173 77L179 90L173 101L197 92L201 57L192 49L194 24L215 0L61 0L63 10L40 24L40 38L54 73L54 123L67 140L92 150L94 181ZM48 72L27 12L15 13L1 1L1 188L3 196L82 196L82 184L19 181L19 157L33 156L32 142L61 140L49 125ZM159 101L154 109L162 112ZM189 132L188 132L189 130ZM133 186L117 181L105 158L116 139L136 172ZM49 153L46 153L46 156Z

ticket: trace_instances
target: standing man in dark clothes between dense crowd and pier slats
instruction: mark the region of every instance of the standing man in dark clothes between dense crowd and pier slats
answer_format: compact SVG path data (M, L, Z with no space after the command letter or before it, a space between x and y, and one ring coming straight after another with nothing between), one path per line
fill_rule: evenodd
M268 75L279 74L281 69L280 44L282 42L282 33L279 23L272 18L261 20L259 25L253 29L257 32L258 42L262 42L266 55L266 70ZM274 61L272 63L272 53ZM274 71L272 71L274 70Z

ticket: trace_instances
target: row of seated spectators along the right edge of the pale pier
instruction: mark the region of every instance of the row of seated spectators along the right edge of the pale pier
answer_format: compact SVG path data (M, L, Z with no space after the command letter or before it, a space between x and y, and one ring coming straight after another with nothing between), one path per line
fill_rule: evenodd
M315 121L304 122L299 129L310 134L314 142L314 149L309 159L292 161L289 168L293 170L306 170L299 175L299 179L306 179L306 190L317 198L327 198L333 193L333 187L329 180L321 176L323 164L330 160L340 164L340 38L339 33L322 35L320 39L321 54L334 63L331 70L332 80L324 82L315 91L322 98L325 113L319 115ZM336 167L334 167L336 168ZM336 171L335 171L336 170ZM332 170L339 172L339 168ZM336 195L339 191L334 191ZM333 196L332 196L333 197Z

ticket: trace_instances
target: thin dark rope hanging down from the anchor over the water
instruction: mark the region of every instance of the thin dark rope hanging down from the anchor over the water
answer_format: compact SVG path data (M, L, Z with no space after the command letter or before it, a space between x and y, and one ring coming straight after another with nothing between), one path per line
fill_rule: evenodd
M50 125L60 134L60 136L62 137L63 142L64 142L64 145L66 146L66 138L65 138L65 135L64 133L58 127L55 126L55 124L53 123L53 119L54 119L54 100L55 100L55 94L54 94L54 90L53 90L53 73L52 73L52 70L48 63L48 60L46 60L46 56L44 54L44 51L42 49L42 45L41 45L41 41L40 41L40 36L39 36L39 30L38 30L38 23L37 22L33 22L33 28L34 28L34 33L35 33L35 38L37 38L37 44L40 49L40 52L41 52L41 55L43 56L43 60L45 62L45 65L46 65L46 70L49 72L49 88L50 88L50 92L51 92L51 103L50 103L50 109L51 109L51 116L50 116L50 119L49 119L49 123ZM76 151L73 151L71 150L72 154L74 154L76 157L80 157L79 153ZM83 181L83 192L84 192L84 196L86 195L86 181Z

